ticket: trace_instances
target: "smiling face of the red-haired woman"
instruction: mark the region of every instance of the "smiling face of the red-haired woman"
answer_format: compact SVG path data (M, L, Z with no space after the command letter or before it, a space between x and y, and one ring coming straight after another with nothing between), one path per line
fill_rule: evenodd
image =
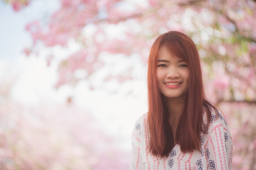
M166 98L184 98L188 81L188 64L162 46L158 52L157 62L157 85L160 93Z

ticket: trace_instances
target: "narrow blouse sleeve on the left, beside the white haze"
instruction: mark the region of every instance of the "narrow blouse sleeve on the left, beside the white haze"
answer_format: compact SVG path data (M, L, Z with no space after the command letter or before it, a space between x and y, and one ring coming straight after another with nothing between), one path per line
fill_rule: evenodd
M132 160L130 163L130 170L143 170L143 164L141 160L141 123L139 120L135 124L135 128L132 133Z

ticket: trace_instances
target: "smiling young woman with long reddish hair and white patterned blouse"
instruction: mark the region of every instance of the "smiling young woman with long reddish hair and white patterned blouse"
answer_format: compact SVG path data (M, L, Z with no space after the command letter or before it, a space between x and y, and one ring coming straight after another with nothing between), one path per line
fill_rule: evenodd
M148 58L148 113L132 133L130 170L231 169L232 137L222 114L205 97L193 41L160 35Z

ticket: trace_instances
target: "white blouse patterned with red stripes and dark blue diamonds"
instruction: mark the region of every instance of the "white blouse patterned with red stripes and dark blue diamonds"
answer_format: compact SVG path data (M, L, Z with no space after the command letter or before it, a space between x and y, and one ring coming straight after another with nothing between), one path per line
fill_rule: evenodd
M204 113L204 122L206 122ZM207 127L207 126L206 126ZM201 133L201 152L183 153L176 144L168 157L155 157L149 153L147 114L136 122L132 133L132 161L130 170L230 170L232 137L222 114L211 115L208 133Z

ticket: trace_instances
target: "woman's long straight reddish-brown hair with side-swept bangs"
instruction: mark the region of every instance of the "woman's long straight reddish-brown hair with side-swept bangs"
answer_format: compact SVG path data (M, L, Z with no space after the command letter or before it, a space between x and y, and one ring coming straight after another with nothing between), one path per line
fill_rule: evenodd
M185 107L180 116L176 131L176 143L182 152L200 151L200 133L204 132L203 108L208 122L211 118L211 107L204 95L201 61L193 41L185 34L170 31L160 35L151 47L148 58L148 131L149 150L155 156L168 156L175 146L168 113L163 98L157 87L156 70L158 52L161 46L189 65L189 87L186 94ZM209 125L209 123L207 124Z

